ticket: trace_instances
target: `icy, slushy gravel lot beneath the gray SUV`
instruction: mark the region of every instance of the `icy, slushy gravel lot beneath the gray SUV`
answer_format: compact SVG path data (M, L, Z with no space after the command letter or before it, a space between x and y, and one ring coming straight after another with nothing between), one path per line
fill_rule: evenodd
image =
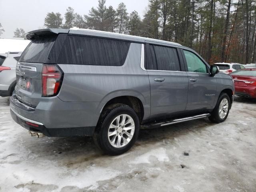
M90 137L30 137L8 100L0 97L0 191L256 191L256 100L236 98L222 124L141 130L121 156L102 154Z

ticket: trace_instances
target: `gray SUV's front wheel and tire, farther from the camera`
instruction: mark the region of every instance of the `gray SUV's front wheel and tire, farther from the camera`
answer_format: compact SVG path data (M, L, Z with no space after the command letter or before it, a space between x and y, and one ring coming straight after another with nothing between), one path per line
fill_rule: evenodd
M228 94L221 93L217 104L209 117L209 120L214 123L221 123L226 120L230 110L230 98Z

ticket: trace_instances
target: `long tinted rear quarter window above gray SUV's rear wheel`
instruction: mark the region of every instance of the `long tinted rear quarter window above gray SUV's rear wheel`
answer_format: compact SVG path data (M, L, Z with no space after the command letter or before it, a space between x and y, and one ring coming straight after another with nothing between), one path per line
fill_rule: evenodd
M68 36L58 63L122 66L130 42L100 38Z

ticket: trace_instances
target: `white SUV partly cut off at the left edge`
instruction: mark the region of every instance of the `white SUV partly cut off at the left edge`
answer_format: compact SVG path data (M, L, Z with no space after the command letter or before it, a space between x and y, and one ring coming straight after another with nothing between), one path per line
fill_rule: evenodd
M0 54L0 96L11 96L16 86L16 64L22 52Z

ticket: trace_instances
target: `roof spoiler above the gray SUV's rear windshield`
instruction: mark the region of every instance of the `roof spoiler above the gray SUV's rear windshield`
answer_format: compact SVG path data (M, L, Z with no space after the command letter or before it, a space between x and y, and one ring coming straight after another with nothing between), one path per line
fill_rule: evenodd
M34 40L40 36L50 36L53 34L68 33L68 31L68 29L39 29L28 32L26 34L26 38L28 40Z

